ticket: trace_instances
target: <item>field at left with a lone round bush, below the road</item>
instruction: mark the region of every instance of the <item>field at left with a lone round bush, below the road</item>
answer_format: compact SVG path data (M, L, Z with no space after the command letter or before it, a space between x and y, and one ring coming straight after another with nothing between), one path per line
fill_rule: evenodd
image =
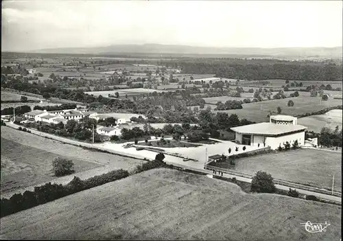
M56 157L73 160L76 172L103 165L128 170L141 163L1 126L1 193L56 179L51 172L51 161Z

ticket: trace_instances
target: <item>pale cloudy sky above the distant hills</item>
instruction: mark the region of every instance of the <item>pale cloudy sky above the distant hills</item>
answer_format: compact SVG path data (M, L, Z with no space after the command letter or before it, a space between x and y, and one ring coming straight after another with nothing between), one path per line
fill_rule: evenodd
M2 51L342 46L342 1L2 1Z

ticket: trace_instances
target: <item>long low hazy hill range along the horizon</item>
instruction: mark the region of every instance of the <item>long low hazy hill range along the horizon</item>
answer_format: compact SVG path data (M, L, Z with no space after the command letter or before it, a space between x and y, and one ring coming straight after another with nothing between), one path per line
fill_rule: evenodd
M288 47L288 48L243 48L243 47L194 47L187 45L110 45L106 47L70 47L38 49L31 53L47 54L171 54L171 55L238 55L279 56L287 58L342 58L342 47Z

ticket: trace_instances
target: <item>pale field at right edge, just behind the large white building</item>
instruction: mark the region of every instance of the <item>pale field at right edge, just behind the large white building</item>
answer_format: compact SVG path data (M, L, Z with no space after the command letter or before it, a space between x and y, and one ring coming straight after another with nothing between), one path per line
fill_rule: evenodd
M323 127L334 130L336 126L342 129L342 110L332 110L323 115L311 115L298 119L298 124L307 126L308 130L320 133Z

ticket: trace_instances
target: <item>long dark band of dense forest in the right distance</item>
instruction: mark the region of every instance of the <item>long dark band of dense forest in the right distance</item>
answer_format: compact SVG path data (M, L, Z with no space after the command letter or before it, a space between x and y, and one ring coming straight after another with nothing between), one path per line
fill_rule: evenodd
M335 64L300 64L298 62L263 63L261 60L247 63L235 61L178 62L183 73L215 73L220 78L239 80L342 80L342 66Z

